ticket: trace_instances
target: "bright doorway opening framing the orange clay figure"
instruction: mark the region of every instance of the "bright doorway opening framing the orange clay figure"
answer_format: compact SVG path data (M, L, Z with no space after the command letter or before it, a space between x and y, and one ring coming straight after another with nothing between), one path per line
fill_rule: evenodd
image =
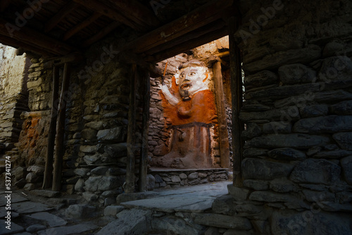
M164 75L150 80L148 143L155 188L231 178L229 47L222 37L158 63Z

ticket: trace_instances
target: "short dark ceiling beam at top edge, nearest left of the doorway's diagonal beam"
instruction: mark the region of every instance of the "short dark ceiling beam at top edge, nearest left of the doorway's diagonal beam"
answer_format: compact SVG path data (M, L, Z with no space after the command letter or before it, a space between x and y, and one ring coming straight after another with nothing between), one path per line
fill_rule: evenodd
M125 15L126 18L129 18L137 25L140 25L140 27L144 27L145 30L151 30L160 25L160 22L153 11L144 6L140 1L117 0L109 1L108 3Z

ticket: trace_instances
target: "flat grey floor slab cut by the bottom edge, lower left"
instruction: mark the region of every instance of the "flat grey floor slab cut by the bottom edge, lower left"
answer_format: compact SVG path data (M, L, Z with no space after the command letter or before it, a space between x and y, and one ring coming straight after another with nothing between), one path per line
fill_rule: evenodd
M60 234L60 235L68 235L68 234L80 234L85 231L97 229L98 227L94 224L76 224L73 226L67 227L56 227L51 229L45 229L43 231L39 231L38 235L53 235L53 234ZM93 233L92 233L93 234Z

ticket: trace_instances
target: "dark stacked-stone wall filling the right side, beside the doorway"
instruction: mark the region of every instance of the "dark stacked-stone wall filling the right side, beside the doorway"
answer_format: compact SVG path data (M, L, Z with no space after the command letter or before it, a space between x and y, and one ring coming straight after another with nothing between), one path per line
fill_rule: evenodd
M196 221L213 234L351 234L352 3L241 4L243 186Z

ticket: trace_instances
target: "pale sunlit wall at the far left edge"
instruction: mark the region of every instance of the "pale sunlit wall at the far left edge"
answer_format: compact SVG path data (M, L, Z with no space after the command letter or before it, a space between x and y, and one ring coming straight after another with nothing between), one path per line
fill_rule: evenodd
M15 143L22 129L20 113L27 110L27 71L30 59L0 44L0 155L17 155ZM14 149L13 149L14 148ZM11 151L11 149L13 149Z

